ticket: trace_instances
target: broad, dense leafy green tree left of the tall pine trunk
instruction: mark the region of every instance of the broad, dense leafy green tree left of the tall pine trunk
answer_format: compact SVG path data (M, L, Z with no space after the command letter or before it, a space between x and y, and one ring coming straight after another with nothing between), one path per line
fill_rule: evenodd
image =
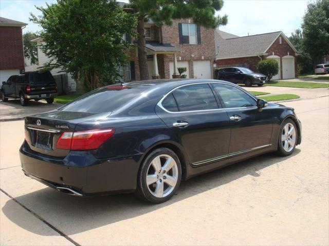
M85 89L113 83L118 68L127 63L125 49L133 46L123 36L134 36L136 17L115 0L58 0L31 20L43 31L43 52L50 57L46 69L62 68L84 81ZM109 79L109 80L107 80Z

